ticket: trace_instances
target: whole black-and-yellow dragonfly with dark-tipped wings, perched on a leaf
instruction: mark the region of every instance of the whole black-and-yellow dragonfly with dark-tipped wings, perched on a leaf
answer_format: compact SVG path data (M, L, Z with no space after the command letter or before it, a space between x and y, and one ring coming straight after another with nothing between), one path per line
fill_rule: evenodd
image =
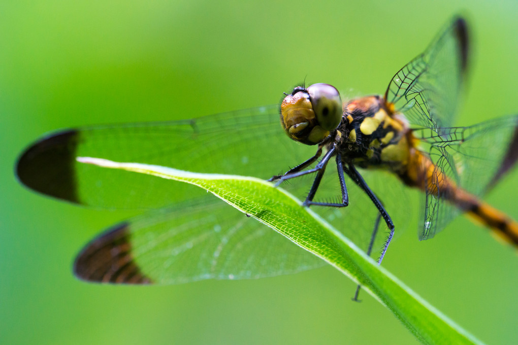
M16 173L46 196L143 211L80 251L74 273L88 281L250 279L325 263L203 190L81 157L269 178L303 196L301 207L314 206L346 236L369 243L368 254L376 243L379 263L395 231L392 216L408 213L401 200L409 188L423 194L420 239L468 213L517 245L518 223L481 197L518 158L518 116L453 127L468 66L468 28L454 18L397 71L383 96L342 102L334 86L299 85L280 107L61 130L26 148ZM338 176L324 174L332 158Z

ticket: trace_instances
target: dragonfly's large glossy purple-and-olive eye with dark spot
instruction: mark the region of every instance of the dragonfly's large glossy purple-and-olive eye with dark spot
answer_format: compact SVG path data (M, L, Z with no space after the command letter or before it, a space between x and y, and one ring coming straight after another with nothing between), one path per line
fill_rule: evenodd
M319 125L332 131L342 120L342 100L338 90L329 84L313 84L307 88Z

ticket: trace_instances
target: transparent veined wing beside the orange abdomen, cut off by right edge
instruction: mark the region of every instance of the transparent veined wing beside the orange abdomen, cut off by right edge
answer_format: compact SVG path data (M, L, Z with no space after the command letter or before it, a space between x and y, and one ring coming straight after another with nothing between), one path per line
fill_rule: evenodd
M508 116L470 127L420 130L415 134L428 144L428 154L436 165L432 184L447 176L476 197L482 197L516 162L518 156L518 116ZM440 173L442 172L442 173ZM461 211L440 194L426 193L424 226L420 239L433 237Z

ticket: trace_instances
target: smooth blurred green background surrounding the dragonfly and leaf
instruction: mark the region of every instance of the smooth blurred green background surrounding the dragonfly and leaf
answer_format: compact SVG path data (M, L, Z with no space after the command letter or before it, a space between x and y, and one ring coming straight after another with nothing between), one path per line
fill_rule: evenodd
M515 0L1 1L0 342L417 343L372 297L352 303L354 283L330 267L168 287L80 282L78 250L130 214L42 198L13 165L53 129L275 103L305 78L347 96L383 93L459 11L474 42L459 124L515 113ZM516 218L517 191L514 173L488 200ZM514 343L515 251L464 217L432 241L414 228L384 266L482 341Z

